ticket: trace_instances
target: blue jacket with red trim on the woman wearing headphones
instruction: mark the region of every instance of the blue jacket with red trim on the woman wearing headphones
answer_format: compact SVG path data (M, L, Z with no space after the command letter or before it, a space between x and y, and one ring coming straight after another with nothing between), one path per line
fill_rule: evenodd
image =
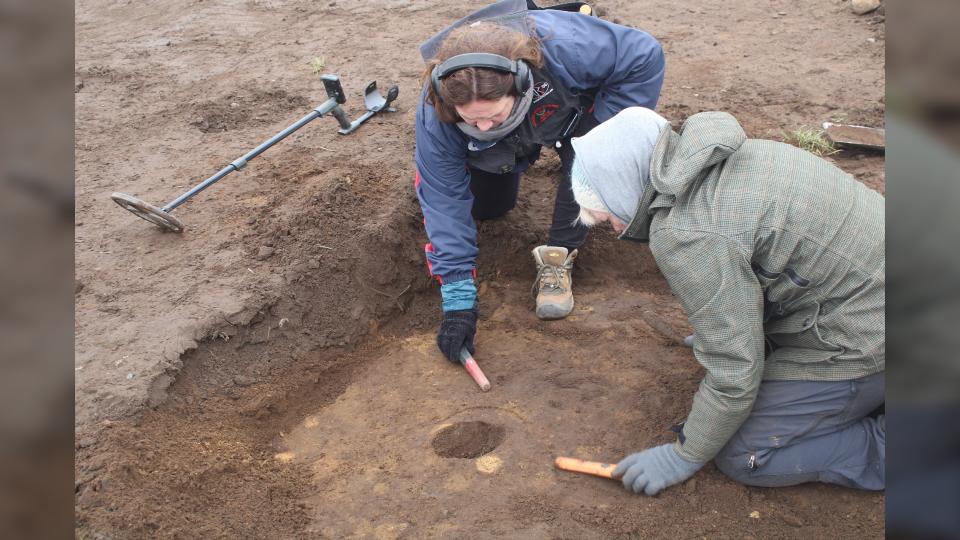
M598 122L626 107L656 107L665 64L660 44L650 34L579 13L546 9L528 16L542 41L545 69L572 91L597 91L593 115ZM430 239L427 265L442 284L476 273L467 143L467 136L441 122L421 94L415 185Z

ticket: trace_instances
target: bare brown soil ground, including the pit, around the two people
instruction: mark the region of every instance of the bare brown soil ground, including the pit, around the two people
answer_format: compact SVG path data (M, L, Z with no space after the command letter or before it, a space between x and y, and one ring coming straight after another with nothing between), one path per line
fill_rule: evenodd
M711 464L657 497L560 472L672 440L702 369L645 246L591 233L565 320L532 312L530 250L559 160L480 225L481 392L434 344L439 293L413 193L417 45L485 5L453 0L76 4L76 516L80 538L883 536L882 494L756 489ZM605 1L664 44L676 127L733 113L782 140L883 127L882 10L816 0ZM162 206L322 103L315 120L175 210ZM829 157L884 191L882 154Z

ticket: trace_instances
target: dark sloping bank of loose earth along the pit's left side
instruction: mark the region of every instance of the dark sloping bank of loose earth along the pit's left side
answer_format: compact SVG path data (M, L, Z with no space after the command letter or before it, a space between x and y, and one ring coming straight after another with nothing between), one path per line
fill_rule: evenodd
M354 369L343 354L382 327L420 324L410 312L431 302L418 296L436 301L412 186L399 189L386 170L314 171L312 196L283 214L267 205L247 223L242 249L271 248L284 283L246 320L206 330L155 379L148 408L81 437L80 537L275 537L304 526L295 503L308 475L276 463L272 441L303 407L342 391Z

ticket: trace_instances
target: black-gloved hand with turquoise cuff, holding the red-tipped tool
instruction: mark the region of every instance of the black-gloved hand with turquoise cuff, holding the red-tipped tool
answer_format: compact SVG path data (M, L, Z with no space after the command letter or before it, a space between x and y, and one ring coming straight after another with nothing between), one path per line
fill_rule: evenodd
M443 321L437 332L437 347L447 360L459 364L460 349L466 347L470 354L476 352L473 338L477 334L477 287L472 279L465 279L445 283L440 293Z

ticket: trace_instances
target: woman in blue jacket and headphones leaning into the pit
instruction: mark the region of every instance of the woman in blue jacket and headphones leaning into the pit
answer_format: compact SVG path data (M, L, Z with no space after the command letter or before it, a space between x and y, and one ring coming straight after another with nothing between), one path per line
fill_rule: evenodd
M620 110L653 109L663 83L660 44L649 34L577 12L503 0L421 46L427 62L416 118L416 192L441 284L440 350L459 362L477 326L474 220L514 207L520 173L544 146L562 173L547 242L533 250L537 316L573 309L570 272L587 227L570 187L581 136Z

